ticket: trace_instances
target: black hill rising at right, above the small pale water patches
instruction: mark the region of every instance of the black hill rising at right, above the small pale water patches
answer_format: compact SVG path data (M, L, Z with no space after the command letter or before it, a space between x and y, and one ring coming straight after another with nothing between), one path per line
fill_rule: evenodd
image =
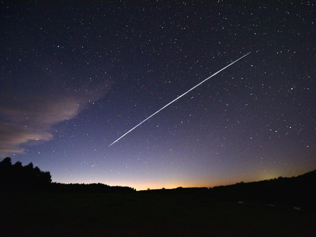
M316 210L315 184L316 170L313 170L296 177L240 182L213 187L209 191L213 198L226 201L262 201Z

